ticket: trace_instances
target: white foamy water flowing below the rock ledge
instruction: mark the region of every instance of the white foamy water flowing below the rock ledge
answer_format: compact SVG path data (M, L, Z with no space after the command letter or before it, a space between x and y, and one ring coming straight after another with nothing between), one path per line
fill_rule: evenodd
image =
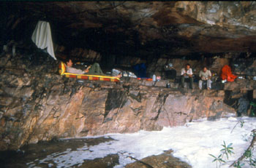
M76 151L67 151L61 153L52 153L45 159L37 161L37 163L45 163L49 166L51 162L57 164L57 167L72 167L79 165L85 159L103 158L109 154L118 153L119 165L124 167L126 164L135 160L129 159L132 156L136 159L143 159L151 155L159 155L163 151L172 149L173 156L178 157L182 161L195 168L215 168L213 157L219 156L222 149L223 141L228 145L233 143L234 154L230 156L230 162L223 164L222 167L228 167L231 161L238 159L249 146L251 130L256 128L256 119L243 117L245 122L241 127L237 124L240 118L230 117L228 119L220 119L219 121L194 121L182 127L165 127L162 131L140 131L132 134L108 134L104 137L112 137L113 141L100 143L94 146L84 145ZM230 133L233 129L233 132ZM225 158L224 158L225 159ZM28 164L34 167L34 162Z

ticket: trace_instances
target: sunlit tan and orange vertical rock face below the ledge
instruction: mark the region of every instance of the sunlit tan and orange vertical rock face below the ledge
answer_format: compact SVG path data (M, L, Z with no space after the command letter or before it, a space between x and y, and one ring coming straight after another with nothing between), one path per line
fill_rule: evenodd
M160 130L235 113L223 103L223 90L181 92L152 87L153 81L80 83L59 76L56 63L46 58L44 63L37 57L42 65L31 70L18 57L7 59L0 74L1 150L53 137Z

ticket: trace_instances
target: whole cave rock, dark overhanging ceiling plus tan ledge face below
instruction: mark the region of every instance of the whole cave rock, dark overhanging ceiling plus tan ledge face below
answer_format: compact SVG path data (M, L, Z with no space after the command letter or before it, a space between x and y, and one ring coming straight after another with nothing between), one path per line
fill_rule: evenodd
M206 52L248 52L250 55L249 52L256 51L256 4L253 1L1 4L1 45L7 44L10 38L30 41L37 21L47 20L54 43L60 45L55 48L59 58L70 54L78 57L74 60L82 57L105 64L118 60L124 65L146 61L148 72L154 73L161 72L166 63L173 63L180 74L186 61L174 59L176 55L200 53L197 56L203 58ZM21 44L12 45L23 48ZM153 84L137 79L119 84L79 83L59 76L58 65L38 55L29 53L23 59L19 54L1 56L1 150L17 149L20 145L53 137L160 130L192 119L214 120L227 112L235 112L223 103L227 99L223 90L183 92L177 89L178 84L171 83L173 89L166 89L166 81ZM220 73L222 66L235 56L212 59L211 71ZM187 62L196 73L204 62L198 57ZM239 59L234 59L233 71L255 76L255 59ZM238 89L238 94L230 94L232 101L226 100L227 103L233 105L240 95L247 94L242 90L254 89L252 95L256 97L255 86L255 81L223 84L230 92ZM248 106L249 100L240 102ZM244 109L241 107L239 111Z

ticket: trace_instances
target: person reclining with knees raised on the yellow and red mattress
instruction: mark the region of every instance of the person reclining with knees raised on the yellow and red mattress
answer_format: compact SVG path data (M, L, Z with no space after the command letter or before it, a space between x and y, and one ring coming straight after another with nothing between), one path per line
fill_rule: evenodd
M107 76L105 73L102 72L102 69L99 67L98 63L89 65L89 67L87 67L84 71L77 68L72 68L72 65L73 65L72 60L69 59L69 61L67 61L67 66L66 66L68 73ZM113 77L120 78L121 74Z

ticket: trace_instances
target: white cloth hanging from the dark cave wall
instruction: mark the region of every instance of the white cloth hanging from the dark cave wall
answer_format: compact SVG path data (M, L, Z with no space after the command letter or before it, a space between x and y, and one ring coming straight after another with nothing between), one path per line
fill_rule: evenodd
M51 39L50 24L48 22L38 21L31 39L39 49L45 49L47 47L48 54L56 60L53 50L53 41Z

